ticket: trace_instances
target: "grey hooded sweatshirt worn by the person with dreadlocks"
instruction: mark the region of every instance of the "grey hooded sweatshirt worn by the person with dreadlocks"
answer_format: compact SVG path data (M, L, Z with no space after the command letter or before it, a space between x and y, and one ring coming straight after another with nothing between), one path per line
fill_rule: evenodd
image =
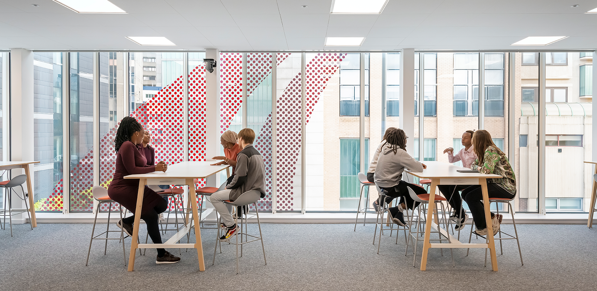
M402 180L404 169L423 171L423 164L411 157L407 151L396 149L396 154L389 143L381 147L377 158L374 180L377 186L389 188L398 185Z

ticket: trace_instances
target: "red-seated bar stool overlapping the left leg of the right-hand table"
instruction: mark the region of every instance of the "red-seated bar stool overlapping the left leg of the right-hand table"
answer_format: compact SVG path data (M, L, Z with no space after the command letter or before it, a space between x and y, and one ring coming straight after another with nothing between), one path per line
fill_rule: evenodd
M425 234L425 231L424 231L425 226L424 225L425 225L425 223L427 223L427 219L426 219L427 215L426 215L426 213L428 211L428 209L427 209L426 206L429 205L429 197L430 197L430 195L435 195L434 198L433 198L433 200L434 200L433 203L435 203L436 215L440 215L440 214L442 215L442 219L441 220L443 220L443 222L444 222L445 229L448 229L448 223L450 223L450 220L447 219L447 217L446 217L446 213L447 212L446 212L446 210L444 208L444 203L442 203L442 201L446 201L446 198L441 197L441 196L436 195L436 194L419 194L419 195L417 195L417 194L415 194L415 192L413 191L413 189L411 189L410 187L407 187L407 189L408 189L408 194L410 195L410 197L414 201L420 203L417 206L417 215L416 215L416 217L417 217L417 223L415 225L415 231L413 231L413 220L415 218L414 210L413 210L413 215L410 216L410 220L408 221L408 238L409 239L407 240L407 249L404 252L404 255L406 256L407 253L408 253L408 243L412 242L413 239L414 239L414 242L413 242L414 243L414 248L413 248L413 255L414 255L414 258L413 258L413 267L415 267L415 263L417 261L417 246L418 246L418 241L423 240L423 238L420 238L420 237L424 236L424 234ZM439 205L439 207L438 207L438 205ZM439 213L440 209L441 209L441 213ZM407 213L408 213L408 208L407 208ZM438 224L438 228L439 228L439 223L441 223L441 220L438 221L437 216L436 216L436 223ZM439 241L439 243L442 243L442 241L448 241L448 243L450 242L449 235L448 236L444 235L445 238L442 238L443 234L441 233L441 231L439 231L439 229L438 229L438 231L433 231L432 230L431 233L432 234L433 233L437 233L439 235L439 238L438 239L429 238L429 241ZM444 249L439 249L439 252L440 252L440 254L442 256L444 256ZM452 253L452 249L450 249L450 256L452 257L452 264L454 265L454 255Z

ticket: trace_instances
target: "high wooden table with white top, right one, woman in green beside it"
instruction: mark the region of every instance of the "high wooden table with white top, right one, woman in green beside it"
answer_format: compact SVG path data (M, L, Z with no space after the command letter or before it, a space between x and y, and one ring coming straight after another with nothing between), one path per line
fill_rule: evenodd
M425 237L423 240L423 256L421 258L421 271L425 271L427 266L427 252L429 248L480 248L489 249L491 254L491 269L497 271L496 245L493 240L493 228L491 227L491 213L489 197L487 194L487 179L501 178L497 174L481 173L458 173L456 170L470 170L453 164L441 163L437 161L426 161L427 169L422 172L406 170L406 173L422 179L431 179L430 193L435 194L438 185L481 185L483 193L483 205L485 208L485 223L487 223L488 243L461 243L457 238L450 235L447 230L441 229L439 225L433 222L433 210L435 210L435 197L429 195L429 209L427 209L427 223L425 223ZM431 228L435 228L442 235L448 238L450 243L429 243Z

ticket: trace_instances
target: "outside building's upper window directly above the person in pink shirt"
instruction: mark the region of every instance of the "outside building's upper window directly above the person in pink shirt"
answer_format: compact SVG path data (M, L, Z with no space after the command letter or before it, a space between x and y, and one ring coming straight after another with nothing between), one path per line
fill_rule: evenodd
M454 107L456 117L479 116L479 54L454 54Z

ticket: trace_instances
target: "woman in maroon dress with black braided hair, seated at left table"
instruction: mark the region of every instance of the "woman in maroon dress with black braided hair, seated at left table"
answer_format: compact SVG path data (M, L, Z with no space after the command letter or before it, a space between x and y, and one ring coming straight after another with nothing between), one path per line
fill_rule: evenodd
M143 143L144 129L133 117L125 117L120 121L116 138L114 140L114 149L116 151L116 170L110 186L108 187L108 196L110 199L128 209L133 216L123 218L116 225L133 237L134 213L137 209L137 191L139 191L139 179L124 179L124 176L130 174L146 174L153 171L166 171L168 165L160 161L155 166L147 165L145 155L140 151L140 145ZM168 208L168 202L158 193L145 186L143 193L143 208L141 209L141 219L147 225L147 234L151 237L153 243L161 244L162 237L159 233L159 213L165 212ZM134 238L133 238L134 239ZM180 258L167 252L165 249L157 249L158 256L155 264L172 264L180 261Z

